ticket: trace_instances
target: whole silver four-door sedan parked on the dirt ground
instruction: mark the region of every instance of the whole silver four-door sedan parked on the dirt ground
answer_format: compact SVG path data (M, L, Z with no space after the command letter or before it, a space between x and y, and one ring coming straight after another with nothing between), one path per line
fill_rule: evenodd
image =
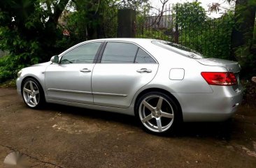
M17 92L32 109L51 102L129 114L164 133L180 121L229 119L242 100L240 70L162 40L99 39L23 68Z

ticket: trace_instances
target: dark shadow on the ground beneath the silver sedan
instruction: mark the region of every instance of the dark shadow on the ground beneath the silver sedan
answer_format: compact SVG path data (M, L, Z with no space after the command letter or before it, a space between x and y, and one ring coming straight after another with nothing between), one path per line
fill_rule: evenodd
M113 121L122 125L141 128L141 124L134 116L104 112L100 110L70 107L66 105L48 104L43 111L56 111L62 114L73 115L79 118L99 119L101 121ZM232 130L235 122L229 119L225 122L197 122L181 123L173 134L163 135L164 137L211 137L229 141L232 137Z

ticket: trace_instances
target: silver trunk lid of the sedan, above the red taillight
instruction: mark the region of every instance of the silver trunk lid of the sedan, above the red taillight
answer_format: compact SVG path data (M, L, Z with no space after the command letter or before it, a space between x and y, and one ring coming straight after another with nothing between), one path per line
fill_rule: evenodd
M235 61L229 61L226 59L215 59L215 58L196 59L196 60L205 66L223 66L227 68L229 72L239 72L241 70L239 63Z

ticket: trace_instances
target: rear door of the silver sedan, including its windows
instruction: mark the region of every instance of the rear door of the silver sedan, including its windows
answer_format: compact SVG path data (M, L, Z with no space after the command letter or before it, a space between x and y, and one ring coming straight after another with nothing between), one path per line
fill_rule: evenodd
M94 105L126 108L138 89L148 84L158 64L133 43L108 42L92 72Z

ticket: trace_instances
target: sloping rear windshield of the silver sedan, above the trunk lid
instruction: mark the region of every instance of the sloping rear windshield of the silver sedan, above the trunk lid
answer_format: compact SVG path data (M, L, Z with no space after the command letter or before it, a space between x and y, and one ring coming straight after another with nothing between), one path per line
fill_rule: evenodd
M169 41L164 40L152 40L152 43L154 45L157 45L164 49L168 49L171 52L176 52L177 54L183 56L188 56L193 59L204 59L204 56L202 56L200 53L195 52L194 50L184 47L182 45L177 45L176 43L171 43Z

